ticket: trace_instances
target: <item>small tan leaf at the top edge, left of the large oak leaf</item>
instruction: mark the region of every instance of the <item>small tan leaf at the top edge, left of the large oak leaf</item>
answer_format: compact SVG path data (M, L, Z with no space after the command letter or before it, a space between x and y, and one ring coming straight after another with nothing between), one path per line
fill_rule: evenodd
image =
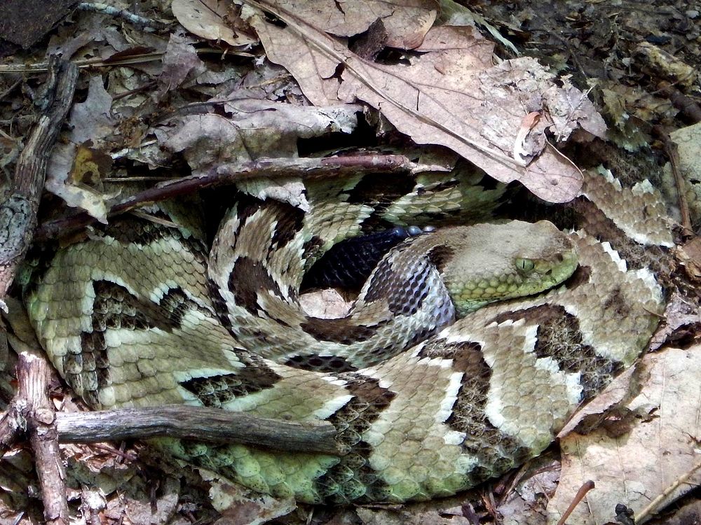
M232 3L227 0L173 0L170 8L182 27L207 40L231 45L251 45L257 39L243 25L233 27Z

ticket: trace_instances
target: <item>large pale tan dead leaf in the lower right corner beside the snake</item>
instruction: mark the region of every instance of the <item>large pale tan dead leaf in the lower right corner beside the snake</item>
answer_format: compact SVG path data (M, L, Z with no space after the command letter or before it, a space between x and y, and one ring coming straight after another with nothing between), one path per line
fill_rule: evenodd
M569 523L612 521L617 503L638 515L665 494L660 509L701 482L701 472L695 472L679 483L701 463L701 346L649 354L642 365L641 375L648 379L626 408L648 416L620 437L608 437L600 429L589 435L571 433L561 441L562 476L547 507L550 523L559 519L587 479L596 489L587 494L586 505L578 505Z

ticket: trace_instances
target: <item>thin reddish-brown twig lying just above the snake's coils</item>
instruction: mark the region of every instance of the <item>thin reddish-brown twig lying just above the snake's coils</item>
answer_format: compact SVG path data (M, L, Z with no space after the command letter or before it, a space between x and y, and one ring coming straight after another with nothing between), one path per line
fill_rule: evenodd
M343 174L363 173L412 173L436 169L411 162L404 155L353 155L332 158L302 158L302 159L259 159L243 162L237 165L222 165L210 169L207 174L193 175L161 183L154 188L144 190L137 195L114 204L108 216L116 216L137 209L146 204L172 199L179 195L193 193L204 188L225 186L247 179L266 177L294 177L315 179L324 176L339 176ZM66 235L95 222L95 218L86 214L57 219L44 223L34 235L35 241L55 239L58 235Z

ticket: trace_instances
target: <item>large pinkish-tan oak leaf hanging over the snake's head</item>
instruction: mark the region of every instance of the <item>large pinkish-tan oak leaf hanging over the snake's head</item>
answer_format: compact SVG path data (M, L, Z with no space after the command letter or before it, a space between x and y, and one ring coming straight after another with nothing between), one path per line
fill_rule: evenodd
M564 140L578 126L600 135L605 126L583 93L562 79L564 87L557 87L536 60L492 66L493 44L477 31L439 26L416 48L420 55L404 57L402 64L377 64L353 55L325 27L281 14L277 7L266 9L287 27L268 24L259 15L250 23L268 58L292 73L313 104L360 99L416 143L447 146L498 181L519 180L551 202L566 202L578 193L579 170L547 144L545 132ZM533 112L540 119L521 140L518 130ZM520 154L515 158L516 146Z

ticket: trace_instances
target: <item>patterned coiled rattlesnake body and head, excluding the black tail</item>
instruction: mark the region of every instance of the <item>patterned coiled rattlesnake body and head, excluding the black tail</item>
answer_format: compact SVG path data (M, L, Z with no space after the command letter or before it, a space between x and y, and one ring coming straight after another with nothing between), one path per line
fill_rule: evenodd
M482 221L504 192L425 174L374 200L380 178L368 177L308 182L297 205L266 197L271 182L240 183L209 252L189 214L177 228L123 217L91 230L39 260L25 287L41 344L95 408L330 421L339 456L159 441L273 496L426 500L538 455L645 348L663 310L653 274L583 230L450 226L385 255L346 318L308 316L299 283L340 239L372 224ZM599 213L592 230L672 246L645 183L590 174L580 200ZM156 215L176 217L168 207Z

